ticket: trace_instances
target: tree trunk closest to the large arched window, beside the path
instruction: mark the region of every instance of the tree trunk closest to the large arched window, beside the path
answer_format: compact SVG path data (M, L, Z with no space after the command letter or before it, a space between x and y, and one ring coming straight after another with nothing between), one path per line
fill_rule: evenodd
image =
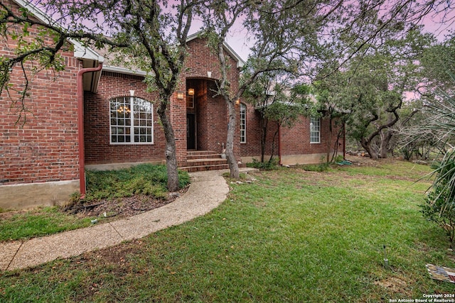
M168 173L168 191L177 192L178 187L178 170L177 170L177 155L176 155L176 138L173 133L171 122L166 115L166 105L168 104L167 97L159 104L158 115L163 125L164 137L166 138L166 170Z

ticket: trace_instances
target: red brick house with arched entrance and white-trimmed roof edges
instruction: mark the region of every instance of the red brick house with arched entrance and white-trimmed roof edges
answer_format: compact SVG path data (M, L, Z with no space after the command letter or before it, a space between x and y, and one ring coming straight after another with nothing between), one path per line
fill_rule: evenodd
M36 18L46 16L24 0L6 0L14 9L27 6ZM32 29L33 35L33 29ZM2 43L11 55L15 40ZM156 93L146 91L144 72L109 65L99 52L75 40L63 55L58 75L34 75L26 100L28 118L17 124L18 96L0 96L0 208L61 204L82 191L84 169L127 167L139 162L164 163L164 133L154 108ZM230 82L238 85L242 59L225 44ZM178 166L186 170L227 168L225 146L228 109L213 92L220 78L218 57L198 35L188 37L186 69L171 99L169 113L176 136ZM103 63L101 66L100 63ZM26 66L31 68L31 65ZM18 67L12 82L23 84ZM259 158L259 114L237 104L234 153L242 163ZM310 131L310 123L313 123ZM277 130L271 126L269 133ZM328 123L301 117L293 128L279 129L275 148L282 164L319 162L328 151ZM267 153L272 146L267 146ZM332 144L331 144L332 145Z

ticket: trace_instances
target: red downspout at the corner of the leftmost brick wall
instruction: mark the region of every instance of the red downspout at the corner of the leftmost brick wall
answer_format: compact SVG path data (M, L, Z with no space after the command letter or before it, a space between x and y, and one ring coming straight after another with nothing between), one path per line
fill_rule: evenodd
M102 62L98 67L82 68L77 72L77 129L79 141L79 189L80 199L85 198L85 146L84 146L84 84L82 75L86 72L99 72Z

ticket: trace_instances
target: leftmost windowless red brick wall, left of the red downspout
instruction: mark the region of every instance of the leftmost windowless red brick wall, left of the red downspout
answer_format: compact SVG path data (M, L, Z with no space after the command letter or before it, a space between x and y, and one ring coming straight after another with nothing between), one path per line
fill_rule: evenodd
M4 1L14 9L12 1ZM31 37L37 33L31 28ZM31 38L30 38L31 39ZM0 55L14 54L15 40L2 42ZM42 71L32 77L25 124L16 124L20 104L13 89L23 89L24 77L18 66L11 74L11 98L0 95L0 184L76 180L78 174L77 153L77 82L76 74L81 65L70 52L62 53L66 68L55 74ZM27 64L29 71L32 65Z

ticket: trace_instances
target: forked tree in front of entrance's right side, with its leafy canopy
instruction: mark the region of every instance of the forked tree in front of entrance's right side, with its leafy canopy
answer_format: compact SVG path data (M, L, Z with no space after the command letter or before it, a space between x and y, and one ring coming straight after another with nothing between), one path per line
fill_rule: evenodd
M238 165L233 153L235 132L235 101L257 78L265 72L288 72L299 75L302 65L311 57L316 57L323 48L318 39L323 27L333 15L341 15L337 10L343 1L213 1L207 6L205 28L210 45L220 60L222 79L218 83L219 94L228 105L229 126L226 140L226 156L230 165L231 177L238 178ZM242 71L239 87L228 79L223 43L237 21L242 21L248 35L255 43L250 49L250 57Z

